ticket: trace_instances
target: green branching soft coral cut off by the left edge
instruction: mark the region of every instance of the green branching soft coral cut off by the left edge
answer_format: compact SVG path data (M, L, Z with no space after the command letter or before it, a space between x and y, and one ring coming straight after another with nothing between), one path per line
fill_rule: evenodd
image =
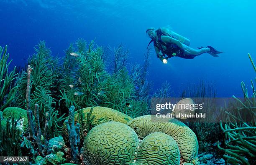
M14 85L16 78L15 69L9 72L8 68L12 60L8 62L9 53L7 52L7 45L5 49L0 47L0 111L3 111L14 100L17 86Z

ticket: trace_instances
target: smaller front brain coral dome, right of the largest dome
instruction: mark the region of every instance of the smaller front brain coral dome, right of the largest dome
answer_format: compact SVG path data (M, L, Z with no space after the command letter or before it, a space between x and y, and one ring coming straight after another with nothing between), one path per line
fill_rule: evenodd
M179 165L179 147L165 133L151 133L139 145L136 162L143 165Z

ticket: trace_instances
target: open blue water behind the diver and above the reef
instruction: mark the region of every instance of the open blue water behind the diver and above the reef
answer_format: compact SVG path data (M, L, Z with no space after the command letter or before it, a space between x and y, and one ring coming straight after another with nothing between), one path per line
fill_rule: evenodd
M174 57L167 65L153 53L148 79L155 89L168 81L177 94L206 80L216 84L219 97L243 96L240 82L251 88L255 77L247 56L256 62L255 7L255 0L1 0L0 45L8 45L12 65L22 67L39 40L63 57L69 42L81 37L103 46L123 43L130 62L142 63L146 28L169 25L191 47L212 45L225 53Z

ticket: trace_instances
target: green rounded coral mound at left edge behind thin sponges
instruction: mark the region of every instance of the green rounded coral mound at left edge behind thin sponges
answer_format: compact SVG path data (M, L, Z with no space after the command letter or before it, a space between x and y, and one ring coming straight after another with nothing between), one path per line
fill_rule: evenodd
M8 107L5 108L3 111L3 118L4 119L12 119L14 117L15 120L23 119L23 131L25 133L28 133L28 117L27 117L27 111L23 110L19 107ZM35 117L33 116L33 120L35 120Z

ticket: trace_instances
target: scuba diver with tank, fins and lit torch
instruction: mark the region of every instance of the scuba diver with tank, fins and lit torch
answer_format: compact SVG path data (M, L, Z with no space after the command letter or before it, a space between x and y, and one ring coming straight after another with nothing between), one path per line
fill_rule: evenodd
M218 57L218 54L223 53L211 46L198 47L198 50L193 49L189 47L189 39L169 30L169 28L159 28L157 30L155 28L148 28L146 34L151 38L148 46L151 42L154 42L156 55L164 64L167 63L168 58L174 56L193 59L206 52L213 57Z

